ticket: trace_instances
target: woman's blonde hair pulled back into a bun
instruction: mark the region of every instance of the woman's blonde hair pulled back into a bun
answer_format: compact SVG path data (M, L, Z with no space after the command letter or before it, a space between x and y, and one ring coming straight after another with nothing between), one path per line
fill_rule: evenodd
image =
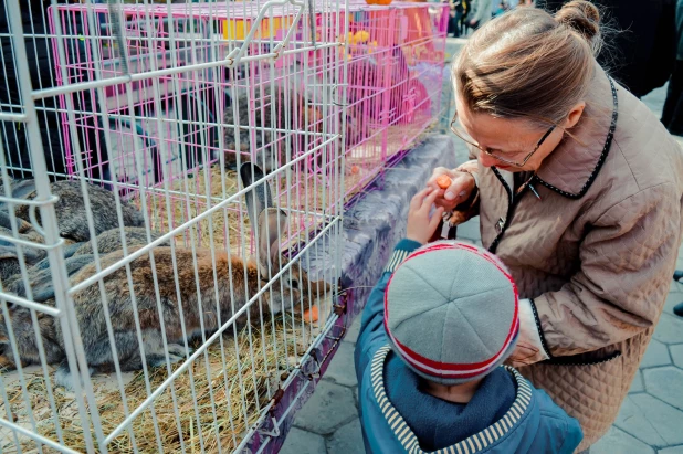
M588 1L571 1L555 17L518 8L472 35L453 81L473 113L558 124L586 96L601 42L600 13Z

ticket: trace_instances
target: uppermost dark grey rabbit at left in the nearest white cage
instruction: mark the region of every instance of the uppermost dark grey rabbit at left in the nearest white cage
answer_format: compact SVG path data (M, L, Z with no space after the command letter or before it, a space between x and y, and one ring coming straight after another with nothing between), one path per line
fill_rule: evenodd
M28 180L27 180L28 181ZM55 202L55 213L60 236L73 242L83 242L91 239L87 226L87 217L85 211L85 202L81 192L81 183L78 181L56 181L50 183L50 190L54 196L59 196ZM114 193L95 184L87 184L90 196L91 210L93 212L93 222L97 234L118 226L118 217L116 213L116 200ZM35 191L28 192L24 199L32 200L36 197ZM145 223L143 214L137 209L126 202L120 201L123 211L124 225L141 226ZM24 221L30 221L29 205L18 205L14 211L17 217ZM38 222L40 222L40 211L35 212Z

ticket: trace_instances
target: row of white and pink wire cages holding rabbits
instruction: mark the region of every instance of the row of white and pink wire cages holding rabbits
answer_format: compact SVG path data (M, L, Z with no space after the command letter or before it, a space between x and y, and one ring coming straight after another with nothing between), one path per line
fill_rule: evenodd
M345 202L438 116L448 8L0 9L0 452L276 436L343 324Z

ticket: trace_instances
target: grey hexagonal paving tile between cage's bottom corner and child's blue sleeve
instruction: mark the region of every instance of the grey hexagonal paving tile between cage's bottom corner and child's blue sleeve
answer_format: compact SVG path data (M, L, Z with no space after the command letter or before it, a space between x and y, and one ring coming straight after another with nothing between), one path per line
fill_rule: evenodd
M354 418L358 418L358 412L354 404L353 391L323 380L318 382L315 392L296 415L294 425L327 435Z

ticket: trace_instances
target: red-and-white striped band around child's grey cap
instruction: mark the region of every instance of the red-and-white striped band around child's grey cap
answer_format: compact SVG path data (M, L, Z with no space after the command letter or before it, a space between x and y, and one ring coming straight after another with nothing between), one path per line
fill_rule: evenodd
M408 261L410 261L410 260L412 260L414 257L423 255L423 254L425 254L428 252L441 251L441 250L448 250L448 249L451 249L451 250L466 250L466 251L470 251L470 252L479 255L480 257L483 257L487 262L492 263L498 271L501 271L503 273L503 275L509 281L509 283L513 286L513 292L514 292L514 297L515 297L514 298L514 300L515 300L515 312L514 312L514 315L513 315L512 326L509 327L509 330L507 332L505 341L503 342L502 348L495 355L493 355L490 359L481 361L481 362L473 362L473 363L448 363L448 362L441 362L441 361L431 360L429 358L425 358L425 357L417 353L416 351L411 350L410 348L408 348L404 345L402 345L401 342L399 342L398 339L396 339L396 337L393 336L393 334L389 329L389 304L388 304L388 299L389 298L388 298L388 295L389 295L389 286L391 285L391 281L393 279L393 276L396 275L396 271L398 271L401 266L403 266L403 264L406 264ZM482 374L483 372L485 372L485 370L488 367L491 367L494 363L496 363L500 360L500 358L505 353L505 351L507 350L507 348L512 344L512 341L515 338L515 336L517 336L517 332L519 330L519 316L518 316L519 296L518 296L518 292L517 292L517 285L515 284L514 279L512 278L512 276L509 275L507 270L504 267L504 264L497 257L493 256L492 254L490 254L487 252L482 252L479 247L475 247L475 246L472 246L472 245L469 245L469 244L464 244L464 243L460 243L460 242L439 242L439 243L433 243L430 246L421 247L420 250L413 252L412 254L410 254L403 261L403 263L401 263L397 267L396 271L391 275L391 277L389 277L389 282L387 283L387 291L385 293L385 329L386 329L387 334L389 335L389 337L391 338L391 340L393 341L393 344L398 347L399 352L401 353L401 356L408 362L410 362L416 369L418 369L418 370L420 370L420 371L422 371L422 372L424 372L427 374L438 376L438 377L446 377L446 378L450 378L450 377L452 377L452 378L476 377L476 376ZM475 369L482 369L482 370L475 370Z

